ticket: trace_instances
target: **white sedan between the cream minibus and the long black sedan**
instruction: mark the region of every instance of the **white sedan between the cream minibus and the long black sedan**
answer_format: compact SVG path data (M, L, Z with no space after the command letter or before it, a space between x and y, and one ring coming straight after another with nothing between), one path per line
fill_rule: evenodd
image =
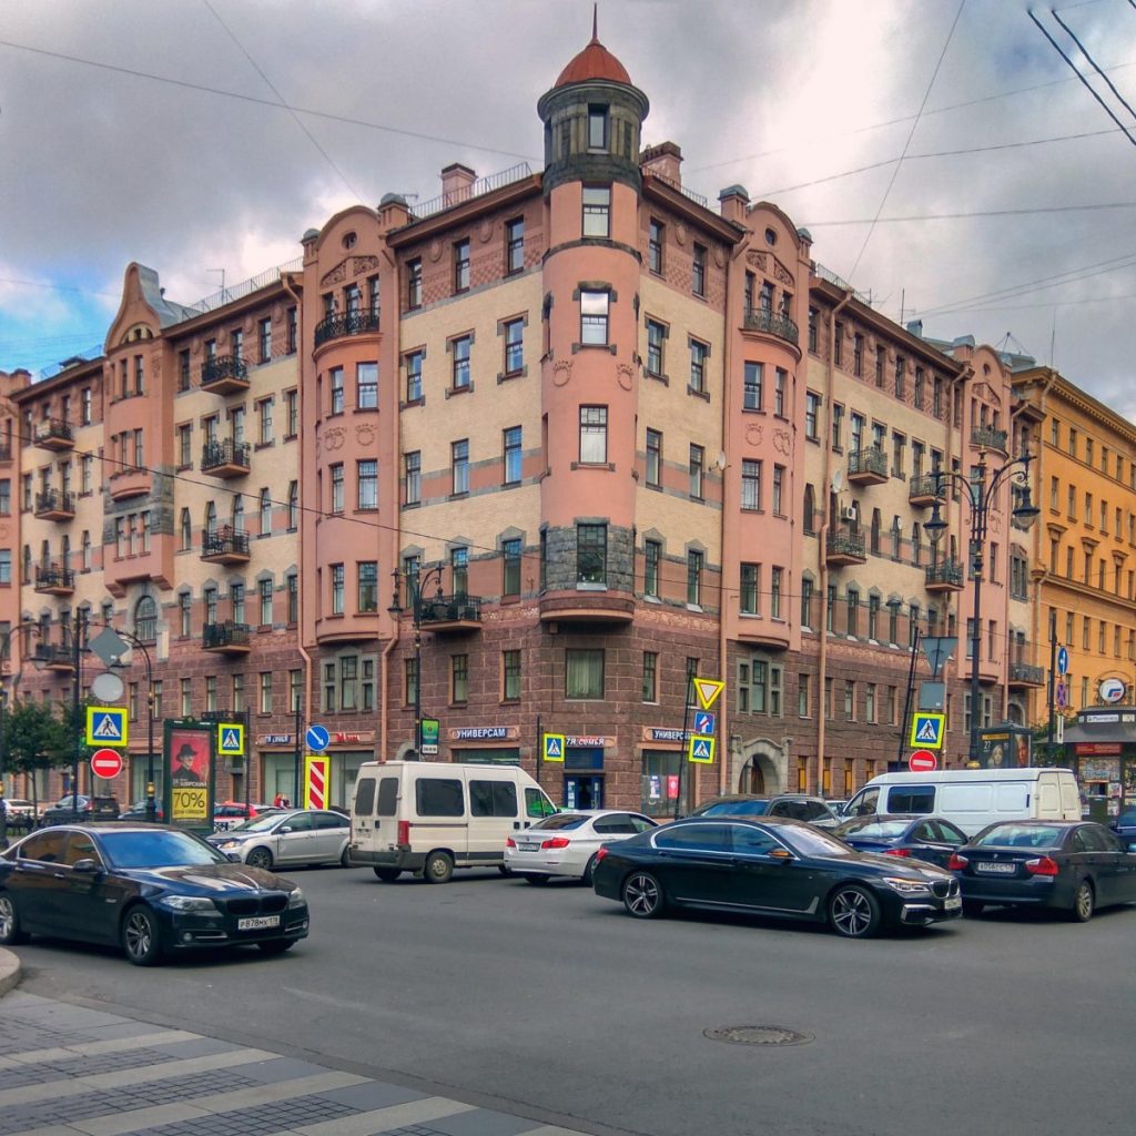
M524 876L531 884L546 884L553 876L591 884L601 844L657 827L658 821L638 812L569 809L510 836L504 844L506 871Z

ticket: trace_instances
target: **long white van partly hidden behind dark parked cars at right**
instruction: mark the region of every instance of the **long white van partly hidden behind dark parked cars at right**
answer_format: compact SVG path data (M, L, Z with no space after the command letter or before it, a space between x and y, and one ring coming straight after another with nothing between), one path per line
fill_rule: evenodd
M842 819L880 812L945 817L968 836L995 820L1080 820L1071 769L937 769L883 774L842 810Z

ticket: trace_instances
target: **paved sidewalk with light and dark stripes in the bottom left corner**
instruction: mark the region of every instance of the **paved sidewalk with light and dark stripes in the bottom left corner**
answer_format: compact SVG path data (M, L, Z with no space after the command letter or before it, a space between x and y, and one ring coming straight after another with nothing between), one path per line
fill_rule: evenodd
M584 1136L18 982L0 949L0 1136Z

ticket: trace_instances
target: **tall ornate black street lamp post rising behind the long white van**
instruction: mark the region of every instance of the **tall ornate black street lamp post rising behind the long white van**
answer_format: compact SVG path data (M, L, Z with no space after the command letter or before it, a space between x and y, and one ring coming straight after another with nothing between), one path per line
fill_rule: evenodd
M970 633L970 760L978 760L978 732L979 713L978 704L982 698L982 685L978 675L978 659L982 650L982 595L983 595L983 570L985 567L985 548L987 521L989 509L995 495L1003 484L1013 481L1017 487L1013 490L1016 504L1011 515L1025 528L1028 528L1039 512L1030 499L1029 491L1029 463L1033 456L1025 450L1020 457L1006 461L1001 469L989 473L986 466L986 450L978 453L978 466L972 477L964 477L954 470L935 470L935 507L932 510L930 520L925 528L933 543L937 543L946 529L946 521L939 512L938 499L943 495L946 485L953 485L961 491L962 500L967 502L970 512L970 571L975 582L974 611L971 615ZM987 479L987 475L989 477Z

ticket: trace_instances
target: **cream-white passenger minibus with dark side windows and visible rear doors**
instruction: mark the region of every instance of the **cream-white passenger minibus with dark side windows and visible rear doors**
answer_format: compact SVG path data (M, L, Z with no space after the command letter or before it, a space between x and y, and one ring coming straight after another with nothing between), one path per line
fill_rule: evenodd
M557 812L519 766L366 761L351 805L350 857L384 883L420 871L444 884L454 868L504 870L504 842Z

